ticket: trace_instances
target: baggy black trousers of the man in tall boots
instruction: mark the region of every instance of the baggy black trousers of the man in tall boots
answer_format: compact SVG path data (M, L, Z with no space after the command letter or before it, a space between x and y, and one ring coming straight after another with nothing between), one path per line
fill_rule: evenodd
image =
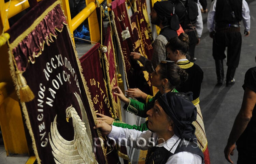
M213 58L223 60L226 58L225 49L227 47L227 66L237 68L240 60L242 45L242 35L240 32L216 32L213 37Z

